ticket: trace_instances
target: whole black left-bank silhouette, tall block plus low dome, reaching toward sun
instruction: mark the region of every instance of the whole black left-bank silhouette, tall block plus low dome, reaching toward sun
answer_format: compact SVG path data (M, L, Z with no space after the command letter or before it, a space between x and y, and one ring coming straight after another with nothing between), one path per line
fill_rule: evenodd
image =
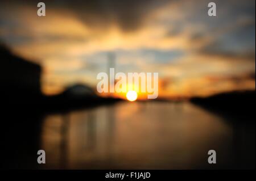
M2 104L37 105L36 108L51 110L92 106L113 102L100 98L89 86L76 84L55 96L43 95L40 90L40 65L20 58L0 45L0 98Z

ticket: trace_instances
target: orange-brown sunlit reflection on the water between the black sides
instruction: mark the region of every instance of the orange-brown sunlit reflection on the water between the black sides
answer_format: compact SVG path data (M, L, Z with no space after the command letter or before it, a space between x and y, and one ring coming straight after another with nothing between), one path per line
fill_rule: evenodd
M232 125L191 103L122 102L48 115L41 146L47 169L210 169L234 167L234 142Z

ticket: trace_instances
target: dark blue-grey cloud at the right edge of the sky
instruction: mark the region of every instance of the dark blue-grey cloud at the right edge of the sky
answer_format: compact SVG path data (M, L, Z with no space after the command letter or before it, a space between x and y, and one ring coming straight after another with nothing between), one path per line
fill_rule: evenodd
M225 28L224 28L225 29ZM222 30L224 30L222 29ZM215 54L225 57L238 57L255 60L255 19L250 17L235 23L228 30L220 30L221 33L212 33L211 41L205 44L200 52ZM198 33L191 36L191 41L207 39L207 33ZM213 38L214 37L214 38Z

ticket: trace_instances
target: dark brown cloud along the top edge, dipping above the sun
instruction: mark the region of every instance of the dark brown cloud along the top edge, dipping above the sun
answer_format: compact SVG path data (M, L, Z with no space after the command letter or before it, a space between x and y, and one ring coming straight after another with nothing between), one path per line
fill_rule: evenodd
M94 28L106 28L117 23L123 31L133 31L142 26L144 18L151 10L165 5L170 0L45 0L47 10L68 10L76 14L82 22ZM24 6L24 1L3 1ZM26 1L26 5L34 6L38 2ZM65 14L63 14L65 16Z

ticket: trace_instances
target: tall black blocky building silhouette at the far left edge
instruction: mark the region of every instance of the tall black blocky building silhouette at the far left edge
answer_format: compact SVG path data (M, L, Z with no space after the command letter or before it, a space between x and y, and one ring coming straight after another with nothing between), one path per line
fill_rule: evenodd
M40 91L41 67L15 56L0 45L1 99L6 103L31 103L42 96Z

